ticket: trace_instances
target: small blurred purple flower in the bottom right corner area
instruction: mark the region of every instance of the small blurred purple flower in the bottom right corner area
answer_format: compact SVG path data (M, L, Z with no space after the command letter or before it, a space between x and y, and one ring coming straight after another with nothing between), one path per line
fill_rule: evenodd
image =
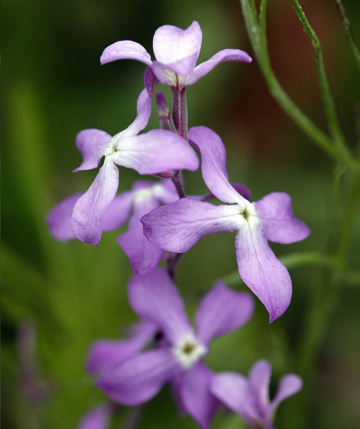
M286 374L272 401L269 400L271 365L258 360L250 369L249 378L232 372L213 376L210 390L228 408L243 417L256 429L274 429L271 423L276 408L284 399L299 392L303 381L298 375Z

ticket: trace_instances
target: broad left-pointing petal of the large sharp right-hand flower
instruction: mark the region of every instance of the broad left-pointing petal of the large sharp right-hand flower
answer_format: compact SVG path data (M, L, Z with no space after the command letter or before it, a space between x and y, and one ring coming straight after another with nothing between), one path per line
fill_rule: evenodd
M213 205L181 198L155 208L140 221L151 243L164 250L183 253L207 234L237 230L240 216L237 205Z

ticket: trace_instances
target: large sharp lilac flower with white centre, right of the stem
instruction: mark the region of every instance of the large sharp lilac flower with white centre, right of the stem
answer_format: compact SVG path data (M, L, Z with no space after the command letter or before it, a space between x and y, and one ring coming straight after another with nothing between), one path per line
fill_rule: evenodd
M186 252L204 235L237 231L239 274L267 308L271 323L288 308L291 278L267 240L284 244L297 242L309 235L309 228L294 217L288 194L273 192L252 203L246 186L229 183L225 147L212 130L191 128L189 139L201 152L202 175L207 187L216 198L230 204L179 199L143 216L144 234L164 250Z

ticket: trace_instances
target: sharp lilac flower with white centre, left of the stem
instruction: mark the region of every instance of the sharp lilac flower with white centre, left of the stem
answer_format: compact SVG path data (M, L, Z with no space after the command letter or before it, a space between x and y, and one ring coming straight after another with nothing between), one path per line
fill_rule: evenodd
M151 100L146 89L138 97L135 121L126 130L111 137L102 130L83 130L76 137L76 146L83 156L74 171L89 170L104 164L87 192L74 205L71 224L76 237L96 245L100 241L104 215L114 199L119 182L115 164L140 174L156 174L171 169L198 168L198 157L189 144L167 130L151 130L137 135L146 127Z

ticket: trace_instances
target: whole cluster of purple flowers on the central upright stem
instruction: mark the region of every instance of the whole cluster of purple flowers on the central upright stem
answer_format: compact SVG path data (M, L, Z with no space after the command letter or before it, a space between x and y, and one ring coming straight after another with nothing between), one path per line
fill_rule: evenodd
M194 329L174 284L174 268L179 254L202 236L236 231L240 277L267 308L272 322L288 308L291 279L268 241L297 242L309 235L309 228L294 217L288 194L273 192L252 202L248 187L230 183L225 146L213 130L202 126L187 130L186 86L220 62L251 62L246 52L224 49L195 66L201 39L200 26L194 21L186 30L171 25L156 30L156 61L145 48L129 40L105 49L102 64L135 59L147 65L137 116L112 137L95 129L78 134L76 146L83 161L74 171L97 168L102 157L104 162L89 189L59 202L47 222L56 239L77 238L93 245L99 243L102 231L116 230L129 222L117 243L134 271L128 296L140 320L129 328L126 340L96 341L87 358L88 372L114 403L140 405L169 383L178 409L190 414L201 428L207 428L217 409L225 406L250 426L270 429L279 402L301 389L297 375L285 375L270 402L271 367L266 361L255 363L249 377L215 374L204 364L214 338L239 329L251 319L252 296L216 282L198 306ZM163 94L158 93L161 129L139 134L149 121L158 82L171 85L172 118ZM210 194L186 197L181 169L198 169L194 148L201 155L202 177ZM160 180L137 180L131 190L117 195L117 166ZM158 266L162 257L168 262L167 270ZM80 427L105 429L113 411L111 404L101 405L84 417Z

